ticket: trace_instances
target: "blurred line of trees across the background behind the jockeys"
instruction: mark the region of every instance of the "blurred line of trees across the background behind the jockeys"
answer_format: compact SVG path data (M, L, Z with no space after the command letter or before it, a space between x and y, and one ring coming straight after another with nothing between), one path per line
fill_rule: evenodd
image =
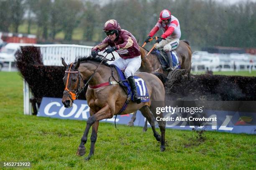
M40 40L54 42L63 32L68 42L80 28L82 40L99 42L105 37L104 23L115 19L142 42L163 9L179 19L181 39L194 46L256 47L256 2L250 1L227 5L215 0L0 0L0 31L19 32L26 23L27 33L37 25Z

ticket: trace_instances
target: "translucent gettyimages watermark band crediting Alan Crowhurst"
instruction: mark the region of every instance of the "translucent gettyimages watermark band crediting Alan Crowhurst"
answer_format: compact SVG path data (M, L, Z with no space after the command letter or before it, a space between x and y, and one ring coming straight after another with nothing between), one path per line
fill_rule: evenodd
M170 126L256 125L256 101L154 101L156 121Z

